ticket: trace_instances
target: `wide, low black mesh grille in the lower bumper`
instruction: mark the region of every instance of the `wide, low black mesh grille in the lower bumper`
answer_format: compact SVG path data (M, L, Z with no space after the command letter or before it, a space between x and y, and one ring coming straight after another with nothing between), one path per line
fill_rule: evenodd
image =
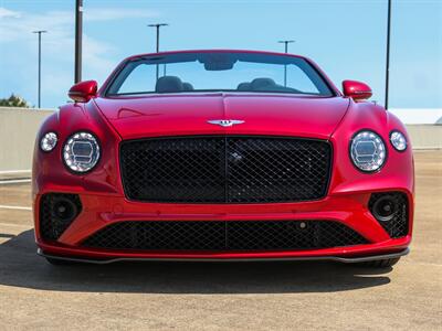
M332 221L128 221L108 225L82 246L141 250L281 250L368 244Z

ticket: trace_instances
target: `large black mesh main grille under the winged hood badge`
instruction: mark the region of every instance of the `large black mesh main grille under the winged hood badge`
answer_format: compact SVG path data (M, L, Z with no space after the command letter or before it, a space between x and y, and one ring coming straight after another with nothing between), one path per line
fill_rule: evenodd
M126 195L136 201L263 203L326 194L327 141L269 137L183 137L120 148Z

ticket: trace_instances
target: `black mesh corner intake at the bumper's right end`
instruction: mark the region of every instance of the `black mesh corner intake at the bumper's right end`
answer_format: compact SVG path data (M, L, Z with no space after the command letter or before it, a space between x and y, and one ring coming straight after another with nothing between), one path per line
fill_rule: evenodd
M370 211L372 211L376 200L382 196L391 197L397 204L398 209L396 210L392 220L388 222L379 221L379 224L382 225L382 227L392 238L399 238L406 236L408 234L408 228L409 228L407 195L401 192L386 192L386 193L371 194L370 201L368 203Z

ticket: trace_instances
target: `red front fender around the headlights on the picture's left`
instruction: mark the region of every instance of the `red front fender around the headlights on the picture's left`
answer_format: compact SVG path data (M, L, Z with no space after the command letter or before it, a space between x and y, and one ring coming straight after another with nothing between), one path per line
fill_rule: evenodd
M59 137L56 147L51 152L43 152L39 142L44 134L54 131ZM76 174L63 163L63 145L77 131L94 134L101 143L101 159L96 168L84 174ZM118 143L120 138L109 127L93 102L87 104L69 104L51 115L42 124L36 136L33 167L32 192L91 192L114 193L122 195L118 167Z

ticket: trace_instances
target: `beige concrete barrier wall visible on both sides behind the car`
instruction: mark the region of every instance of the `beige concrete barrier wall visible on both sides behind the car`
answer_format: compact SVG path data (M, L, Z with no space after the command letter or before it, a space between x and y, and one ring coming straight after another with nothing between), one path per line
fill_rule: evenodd
M36 131L54 110L0 107L0 173L30 170ZM409 125L414 149L442 149L442 125Z

